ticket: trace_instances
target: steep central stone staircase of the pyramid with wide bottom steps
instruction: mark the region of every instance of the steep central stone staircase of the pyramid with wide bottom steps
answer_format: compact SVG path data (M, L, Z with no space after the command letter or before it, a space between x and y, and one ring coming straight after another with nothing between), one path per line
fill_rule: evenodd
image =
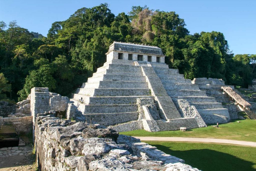
M172 98L167 94L161 79L156 75L153 67L142 66L143 75L146 76L146 80L151 89L152 95L158 102L161 113L165 116L166 122L163 120L157 120L157 125L161 131L166 130L178 130L180 127L198 128L198 124L195 118L182 118L177 110ZM161 116L160 113L160 116Z

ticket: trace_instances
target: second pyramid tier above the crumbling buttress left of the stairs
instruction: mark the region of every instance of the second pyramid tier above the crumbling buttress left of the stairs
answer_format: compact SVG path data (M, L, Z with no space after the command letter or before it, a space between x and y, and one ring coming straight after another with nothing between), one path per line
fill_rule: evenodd
M81 88L148 88L147 82L98 81L83 83Z

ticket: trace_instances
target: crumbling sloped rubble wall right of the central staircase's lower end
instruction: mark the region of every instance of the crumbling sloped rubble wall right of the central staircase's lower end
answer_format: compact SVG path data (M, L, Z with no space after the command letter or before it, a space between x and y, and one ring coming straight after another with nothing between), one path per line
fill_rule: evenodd
M175 99L173 100L179 113L184 118L196 118L199 128L207 127L195 106L191 106L187 100Z

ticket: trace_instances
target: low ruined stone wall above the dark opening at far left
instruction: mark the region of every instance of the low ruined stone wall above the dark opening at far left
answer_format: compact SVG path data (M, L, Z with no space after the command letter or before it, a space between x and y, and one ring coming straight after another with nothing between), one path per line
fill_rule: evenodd
M0 118L0 129L3 125L9 124L14 127L17 134L30 133L32 131L32 116L19 115Z

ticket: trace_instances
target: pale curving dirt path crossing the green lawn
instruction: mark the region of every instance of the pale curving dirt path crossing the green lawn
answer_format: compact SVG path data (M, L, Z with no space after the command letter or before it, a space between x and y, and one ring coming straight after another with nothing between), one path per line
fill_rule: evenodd
M141 141L181 141L181 142L206 142L206 143L223 143L256 147L256 142L226 140L215 138L192 138L192 137L159 137L159 136L134 136Z

